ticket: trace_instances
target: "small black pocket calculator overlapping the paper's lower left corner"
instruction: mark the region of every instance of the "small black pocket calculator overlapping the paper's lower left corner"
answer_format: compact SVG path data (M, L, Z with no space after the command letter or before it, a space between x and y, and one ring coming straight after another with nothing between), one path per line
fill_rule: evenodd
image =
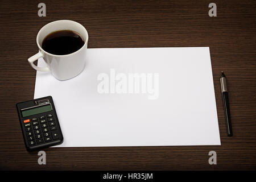
M51 96L16 104L28 151L63 143L59 120Z

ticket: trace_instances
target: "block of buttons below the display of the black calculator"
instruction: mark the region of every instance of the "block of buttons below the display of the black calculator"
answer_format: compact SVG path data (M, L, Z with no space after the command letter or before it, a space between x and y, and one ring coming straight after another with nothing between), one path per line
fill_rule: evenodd
M59 139L56 132L57 126L53 114L40 115L40 117L24 120L24 127L27 132L27 140L30 146L42 144Z

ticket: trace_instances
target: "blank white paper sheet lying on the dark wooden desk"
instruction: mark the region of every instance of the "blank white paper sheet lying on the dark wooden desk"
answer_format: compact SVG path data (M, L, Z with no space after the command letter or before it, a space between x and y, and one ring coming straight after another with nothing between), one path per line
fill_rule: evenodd
M118 80L109 86L114 93L99 93L98 76L110 79L113 70L122 73L119 81L158 74L157 99L110 90ZM63 131L57 147L220 145L209 47L88 49L84 71L71 80L36 73L34 98L45 96L52 96Z

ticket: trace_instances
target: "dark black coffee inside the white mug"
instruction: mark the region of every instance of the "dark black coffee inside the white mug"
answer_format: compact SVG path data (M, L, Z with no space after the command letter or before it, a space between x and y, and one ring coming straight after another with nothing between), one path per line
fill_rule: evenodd
M52 32L44 38L42 48L53 55L68 55L84 46L84 40L71 30Z

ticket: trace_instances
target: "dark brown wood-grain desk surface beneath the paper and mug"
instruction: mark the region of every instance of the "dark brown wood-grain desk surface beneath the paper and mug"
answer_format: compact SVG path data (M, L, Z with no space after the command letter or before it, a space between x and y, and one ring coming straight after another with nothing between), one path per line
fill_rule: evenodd
M256 169L256 1L1 1L0 169ZM16 102L34 97L27 59L46 23L71 19L89 33L89 48L209 46L221 146L48 148L47 165L28 153ZM234 137L226 136L220 72L228 78ZM208 152L217 152L217 165Z

